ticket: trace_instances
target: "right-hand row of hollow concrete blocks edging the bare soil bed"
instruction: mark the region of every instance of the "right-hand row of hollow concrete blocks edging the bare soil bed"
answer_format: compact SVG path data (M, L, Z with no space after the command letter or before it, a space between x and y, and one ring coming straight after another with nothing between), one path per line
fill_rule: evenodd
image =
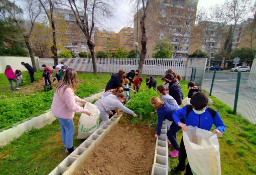
M168 174L168 138L166 121L163 122L161 135L157 138L152 175Z

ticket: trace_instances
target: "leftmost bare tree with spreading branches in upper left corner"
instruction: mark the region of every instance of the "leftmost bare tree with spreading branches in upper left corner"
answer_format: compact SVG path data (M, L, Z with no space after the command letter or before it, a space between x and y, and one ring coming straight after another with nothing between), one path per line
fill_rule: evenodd
M14 22L18 26L20 32L22 33L25 44L29 51L33 68L36 70L36 63L32 52L30 37L34 29L36 19L41 13L41 6L39 6L39 4L35 0L24 0L22 3L24 6L24 10L28 13L29 18L28 20L24 20L22 17L24 11L22 11L22 9L20 9L16 5L16 3L17 1L15 0L13 1L13 3L9 2L8 0L1 1L1 4L8 7L7 11L9 12Z

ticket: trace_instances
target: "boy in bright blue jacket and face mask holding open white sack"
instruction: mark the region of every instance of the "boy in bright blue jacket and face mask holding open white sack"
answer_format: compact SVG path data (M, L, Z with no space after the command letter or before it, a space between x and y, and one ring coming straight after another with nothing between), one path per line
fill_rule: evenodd
M187 131L187 125L197 126L198 128L209 131L211 130L212 124L214 124L216 128L213 132L217 134L218 137L221 137L222 132L225 131L225 125L219 113L207 107L209 97L204 92L197 92L192 96L190 102L192 105L186 105L173 114L174 122L180 126L183 131ZM185 123L181 122L180 118L182 117L185 117ZM184 171L186 169L186 175L192 174L189 163L185 167L186 158L187 153L182 138L179 149L179 163L176 167L172 168L172 172Z

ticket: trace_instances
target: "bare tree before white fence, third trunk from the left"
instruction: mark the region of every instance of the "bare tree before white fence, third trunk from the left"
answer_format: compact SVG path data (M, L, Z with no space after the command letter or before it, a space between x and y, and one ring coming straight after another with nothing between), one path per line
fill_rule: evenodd
M91 52L93 73L97 74L96 58L95 58L95 44L93 42L93 35L95 25L100 25L102 18L109 18L112 16L109 1L104 0L83 0L82 4L75 0L68 0L69 8L73 11L76 24L83 32L87 46Z

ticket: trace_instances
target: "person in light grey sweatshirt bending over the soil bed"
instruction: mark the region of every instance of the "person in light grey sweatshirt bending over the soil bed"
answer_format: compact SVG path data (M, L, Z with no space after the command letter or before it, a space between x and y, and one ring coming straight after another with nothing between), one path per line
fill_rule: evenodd
M105 96L104 98L98 99L94 104L98 107L100 110L99 117L102 119L102 122L99 124L99 126L103 125L105 122L108 121L109 114L111 114L111 110L114 110L116 108L121 109L123 112L127 114L131 114L134 117L137 117L137 114L134 113L129 108L126 108L122 103L124 102L124 94L123 93L117 93L116 95L110 94L108 96Z

